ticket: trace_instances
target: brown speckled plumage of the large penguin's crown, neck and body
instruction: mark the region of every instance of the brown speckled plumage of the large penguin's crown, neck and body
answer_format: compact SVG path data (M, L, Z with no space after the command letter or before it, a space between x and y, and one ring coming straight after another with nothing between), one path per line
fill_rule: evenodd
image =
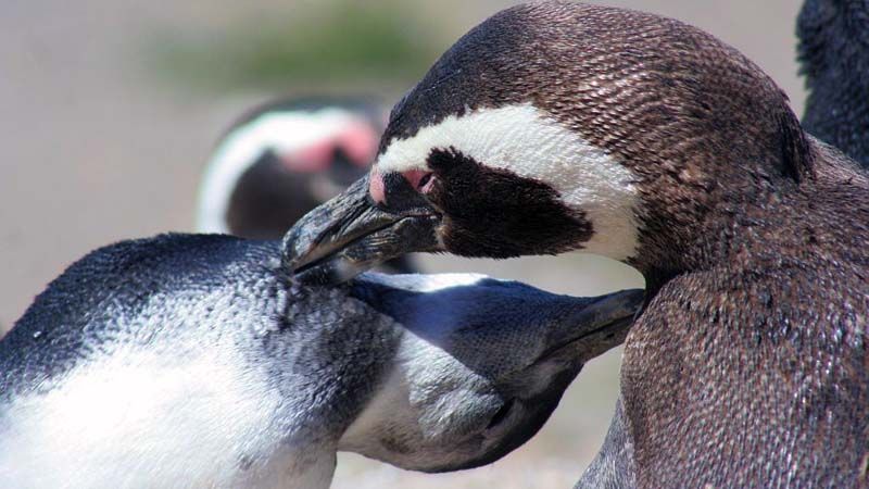
M757 66L678 21L545 2L473 29L381 142L532 103L637 176L650 302L580 485L854 487L869 463L869 183ZM624 414L624 415L622 415Z

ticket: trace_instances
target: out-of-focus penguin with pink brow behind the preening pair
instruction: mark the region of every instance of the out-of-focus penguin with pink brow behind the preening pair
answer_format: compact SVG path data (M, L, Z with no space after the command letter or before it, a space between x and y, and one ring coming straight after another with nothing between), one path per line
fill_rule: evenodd
M386 110L365 97L286 97L252 109L216 145L202 176L197 231L284 237L365 175ZM402 258L387 269L412 273Z

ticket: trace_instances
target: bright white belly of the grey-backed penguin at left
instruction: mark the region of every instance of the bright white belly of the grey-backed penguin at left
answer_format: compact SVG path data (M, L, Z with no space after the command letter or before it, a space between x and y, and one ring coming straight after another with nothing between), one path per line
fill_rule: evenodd
M211 347L115 352L0 406L0 487L294 487L278 393Z

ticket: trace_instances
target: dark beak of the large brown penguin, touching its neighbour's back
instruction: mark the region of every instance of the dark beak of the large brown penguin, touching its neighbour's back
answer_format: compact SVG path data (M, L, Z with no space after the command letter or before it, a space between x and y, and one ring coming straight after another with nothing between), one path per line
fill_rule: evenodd
M337 284L404 253L439 250L440 216L421 196L396 179L387 209L374 202L368 183L366 175L284 237L284 266L297 280Z

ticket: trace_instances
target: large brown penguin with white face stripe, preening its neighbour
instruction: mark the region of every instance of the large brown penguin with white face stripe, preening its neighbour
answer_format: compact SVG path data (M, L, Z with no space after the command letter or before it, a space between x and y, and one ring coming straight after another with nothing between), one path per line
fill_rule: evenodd
M869 484L869 177L732 47L637 11L507 9L398 102L364 180L298 224L301 280L380 242L643 274L577 487Z

